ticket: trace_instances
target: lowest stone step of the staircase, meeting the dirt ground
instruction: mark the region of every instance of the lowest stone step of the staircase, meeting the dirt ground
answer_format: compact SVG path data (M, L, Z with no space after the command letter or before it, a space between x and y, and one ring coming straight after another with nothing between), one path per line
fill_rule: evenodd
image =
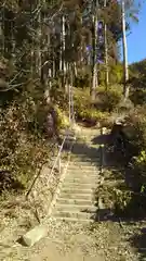
M61 217L72 217L72 219L81 219L81 220L94 220L96 216L95 211L92 212L79 212L79 211L57 211L54 209L53 216L61 216Z

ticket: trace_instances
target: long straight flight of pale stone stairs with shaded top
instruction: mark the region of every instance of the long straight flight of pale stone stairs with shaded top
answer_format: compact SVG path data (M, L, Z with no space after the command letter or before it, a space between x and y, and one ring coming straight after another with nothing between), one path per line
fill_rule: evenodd
M95 148L90 142L75 144L67 173L52 209L52 216L56 220L80 222L92 222L95 219L97 207L94 192L99 182L98 165L98 146Z

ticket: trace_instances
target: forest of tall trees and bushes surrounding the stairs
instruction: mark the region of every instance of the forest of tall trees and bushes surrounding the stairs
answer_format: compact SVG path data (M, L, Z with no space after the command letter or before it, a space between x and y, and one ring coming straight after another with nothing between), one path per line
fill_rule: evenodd
M57 148L55 135L74 121L114 133L114 153L120 149L118 160L130 181L124 189L105 186L104 194L118 216L145 219L146 59L129 65L127 46L140 9L134 0L1 0L2 210L8 198L28 190ZM52 109L56 124L49 132Z

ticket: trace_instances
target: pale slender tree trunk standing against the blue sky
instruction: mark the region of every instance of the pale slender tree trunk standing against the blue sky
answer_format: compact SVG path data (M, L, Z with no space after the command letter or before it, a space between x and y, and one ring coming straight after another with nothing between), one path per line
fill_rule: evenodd
M122 48L123 48L123 96L124 99L129 97L129 86L127 85L129 80L129 67L128 67L128 46L127 46L127 36L125 36L125 7L124 0L121 0L122 7Z

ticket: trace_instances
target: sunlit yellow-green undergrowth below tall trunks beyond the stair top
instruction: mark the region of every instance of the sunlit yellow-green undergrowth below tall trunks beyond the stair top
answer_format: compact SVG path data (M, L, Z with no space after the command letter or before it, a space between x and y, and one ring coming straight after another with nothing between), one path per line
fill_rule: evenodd
M75 88L75 112L77 121L96 125L108 125L110 113L117 110L121 100L121 86L104 86L96 89L96 98L91 101L89 88Z

